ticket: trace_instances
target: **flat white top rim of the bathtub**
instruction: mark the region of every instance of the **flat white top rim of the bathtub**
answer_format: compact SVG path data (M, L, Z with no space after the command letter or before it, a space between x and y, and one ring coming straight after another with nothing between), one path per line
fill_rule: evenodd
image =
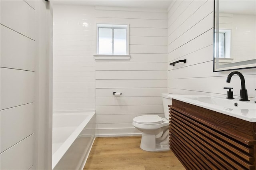
M90 122L92 117L95 115L95 110L90 111L56 111L53 113L54 115L89 115L78 125L78 127L72 132L72 134L65 140L65 142L62 143L62 145L56 150L56 152L52 153L52 169L58 164L62 156L66 153L68 148L72 145L72 143L76 140L76 138L79 136L79 134L82 132L84 127ZM95 137L95 135L93 136Z

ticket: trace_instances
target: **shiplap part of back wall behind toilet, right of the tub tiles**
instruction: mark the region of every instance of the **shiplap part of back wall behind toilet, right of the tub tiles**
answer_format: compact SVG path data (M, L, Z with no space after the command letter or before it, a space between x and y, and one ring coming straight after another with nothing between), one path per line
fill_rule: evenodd
M96 7L96 23L129 24L130 60L96 61L96 136L140 134L136 116L164 116L167 12ZM113 92L122 93L114 97Z

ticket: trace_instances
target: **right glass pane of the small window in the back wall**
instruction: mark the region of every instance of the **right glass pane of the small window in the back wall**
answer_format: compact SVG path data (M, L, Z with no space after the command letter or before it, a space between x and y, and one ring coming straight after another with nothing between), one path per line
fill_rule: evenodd
M126 54L126 29L114 28L114 54Z

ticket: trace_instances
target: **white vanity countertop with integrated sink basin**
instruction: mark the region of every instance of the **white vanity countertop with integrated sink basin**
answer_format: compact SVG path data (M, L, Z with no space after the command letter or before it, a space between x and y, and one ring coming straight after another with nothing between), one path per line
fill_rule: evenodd
M203 95L170 95L170 97L245 121L256 122L256 103L254 101L239 101L239 99Z

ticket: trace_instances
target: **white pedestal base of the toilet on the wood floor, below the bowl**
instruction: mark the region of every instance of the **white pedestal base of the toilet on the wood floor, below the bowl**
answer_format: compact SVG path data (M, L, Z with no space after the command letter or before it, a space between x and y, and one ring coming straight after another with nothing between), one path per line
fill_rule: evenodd
M167 136L168 137L168 136ZM150 152L170 150L169 144L156 143L156 135L142 132L140 148Z

